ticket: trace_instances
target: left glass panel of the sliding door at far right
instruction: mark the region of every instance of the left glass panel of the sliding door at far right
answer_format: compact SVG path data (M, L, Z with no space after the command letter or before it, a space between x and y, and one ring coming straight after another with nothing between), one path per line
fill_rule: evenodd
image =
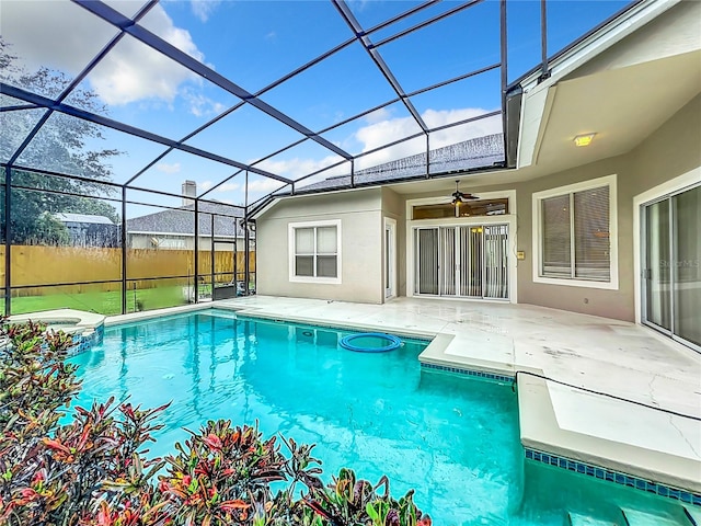
M645 320L671 330L669 199L645 208Z

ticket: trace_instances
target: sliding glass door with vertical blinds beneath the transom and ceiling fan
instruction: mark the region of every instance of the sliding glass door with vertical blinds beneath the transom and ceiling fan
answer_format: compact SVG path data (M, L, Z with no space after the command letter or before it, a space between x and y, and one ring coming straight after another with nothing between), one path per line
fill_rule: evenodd
M508 226L416 228L414 291L508 299Z

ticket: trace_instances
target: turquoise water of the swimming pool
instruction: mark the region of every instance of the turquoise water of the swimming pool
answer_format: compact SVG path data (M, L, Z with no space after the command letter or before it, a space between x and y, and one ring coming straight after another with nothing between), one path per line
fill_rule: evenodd
M102 345L71 358L83 380L77 403L172 401L153 455L172 453L183 427L257 420L265 435L318 444L327 480L347 466L370 481L387 473L397 496L414 488L436 525L560 526L567 512L611 519L623 505L678 513L660 498L526 461L510 384L422 370L427 342L350 352L338 345L347 334L217 310L107 329Z

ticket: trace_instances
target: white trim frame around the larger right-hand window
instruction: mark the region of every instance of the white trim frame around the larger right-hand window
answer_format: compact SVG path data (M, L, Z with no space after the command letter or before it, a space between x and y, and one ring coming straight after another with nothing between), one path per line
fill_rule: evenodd
M548 197L572 194L599 186L609 187L609 240L610 240L610 279L608 282L596 282L588 279L571 279L566 277L543 277L540 275L540 263L542 256L542 221L540 202ZM547 285L562 285L565 287L604 288L618 290L618 192L617 175L605 175L602 178L590 179L579 183L558 186L555 188L533 192L531 196L532 205L532 251L533 251L533 283Z

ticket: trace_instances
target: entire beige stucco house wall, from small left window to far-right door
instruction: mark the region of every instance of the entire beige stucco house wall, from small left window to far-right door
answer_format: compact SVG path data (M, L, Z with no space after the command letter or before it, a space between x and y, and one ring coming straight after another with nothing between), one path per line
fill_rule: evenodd
M701 95L694 98L632 151L527 182L471 186L470 191L516 190L518 302L627 321L635 318L633 275L633 198L665 181L701 167ZM617 175L618 271L617 290L533 283L532 194L605 175ZM391 188L367 188L287 199L258 220L258 294L360 302L383 300L383 217L397 220L398 289L406 295L407 199L445 196L445 192L398 194ZM341 219L343 283L289 283L288 225L300 220ZM348 255L352 254L352 255Z

